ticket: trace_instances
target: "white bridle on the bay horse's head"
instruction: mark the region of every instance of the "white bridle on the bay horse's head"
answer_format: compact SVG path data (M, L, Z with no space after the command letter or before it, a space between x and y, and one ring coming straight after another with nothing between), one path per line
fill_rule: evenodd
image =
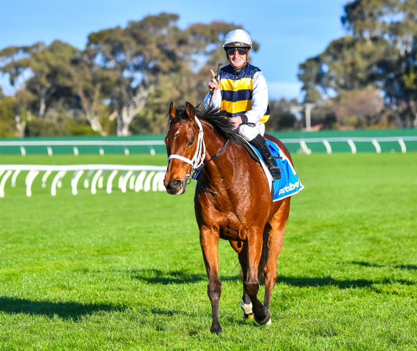
M186 158L184 156L177 155L177 154L171 154L168 157L168 163L170 162L171 158L177 158L177 159L179 159L179 160L181 160L185 163L188 163L190 165L190 168L188 168L186 177L184 177L184 179L187 181L187 184L190 183L192 179L197 178L200 170L202 170L202 168L204 168L204 166L208 162L210 162L214 158L220 156L224 152L224 150L226 150L227 144L230 141L230 139L227 139L226 142L224 143L222 149L220 150L220 152L215 154L208 161L204 162L204 158L206 158L206 143L204 142L203 126L202 126L202 123L197 118L197 116L195 116L195 122L197 122L197 126L199 128L199 131L198 131L198 137L197 137L197 149L195 150L195 154L194 154L193 158L190 159L190 158Z

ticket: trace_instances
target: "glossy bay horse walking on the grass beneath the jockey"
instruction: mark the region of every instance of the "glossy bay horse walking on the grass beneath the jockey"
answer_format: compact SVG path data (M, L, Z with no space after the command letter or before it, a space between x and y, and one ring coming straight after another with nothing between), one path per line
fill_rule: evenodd
M229 240L238 253L243 273L240 307L245 318L253 316L257 323L269 325L270 299L277 280L277 259L284 241L291 197L272 202L261 165L250 156L243 145L245 140L218 109L194 108L188 102L185 108L177 109L171 103L168 123L165 138L168 166L164 179L167 193L183 194L192 174L199 173L195 218L208 276L207 293L213 315L211 332L222 332L219 238ZM291 161L282 142L266 134L265 138L276 142ZM257 297L261 274L265 276L263 304Z

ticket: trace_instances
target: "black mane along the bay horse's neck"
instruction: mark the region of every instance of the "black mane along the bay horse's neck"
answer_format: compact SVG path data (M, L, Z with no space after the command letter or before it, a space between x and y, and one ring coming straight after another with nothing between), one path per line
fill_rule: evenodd
M202 104L195 106L195 115L199 120L205 121L224 138L231 140L236 145L243 144L245 140L233 130L229 118L220 111L220 108L214 106L204 107ZM177 108L176 117L183 120L185 117L185 109ZM177 119L176 118L176 119ZM174 120L170 120L170 127L174 124Z

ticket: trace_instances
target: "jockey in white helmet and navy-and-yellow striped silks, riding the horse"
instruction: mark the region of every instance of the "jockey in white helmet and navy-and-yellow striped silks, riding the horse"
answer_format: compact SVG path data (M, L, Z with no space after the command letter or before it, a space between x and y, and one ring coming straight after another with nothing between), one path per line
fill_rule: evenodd
M224 37L223 48L229 65L222 67L218 81L211 70L213 79L204 104L218 106L229 116L234 129L259 151L272 178L281 179L281 169L263 138L270 114L268 87L261 70L247 62L252 40L243 29L235 29Z

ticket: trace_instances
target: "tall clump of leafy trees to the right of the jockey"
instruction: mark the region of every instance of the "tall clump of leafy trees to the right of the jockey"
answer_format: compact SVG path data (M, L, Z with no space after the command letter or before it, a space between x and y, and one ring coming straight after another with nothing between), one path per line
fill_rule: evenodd
M342 23L349 34L300 65L306 99L315 99L315 92L329 97L373 86L406 120L415 118L416 1L350 1Z

